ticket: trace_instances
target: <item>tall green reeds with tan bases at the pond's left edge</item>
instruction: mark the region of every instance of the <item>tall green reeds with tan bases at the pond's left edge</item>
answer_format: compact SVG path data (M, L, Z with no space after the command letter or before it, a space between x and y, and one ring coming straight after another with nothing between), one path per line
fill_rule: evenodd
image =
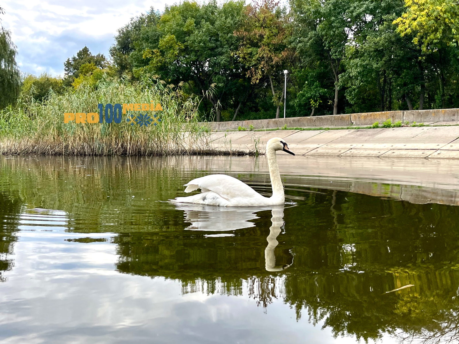
M160 103L156 126L64 123L64 113L98 113L97 104ZM97 87L81 85L43 102L22 95L0 112L0 154L168 155L212 152L209 132L198 123L199 99L164 81L131 83L102 79ZM139 112L132 112L138 114ZM140 112L145 113L145 112ZM152 113L149 113L152 116Z

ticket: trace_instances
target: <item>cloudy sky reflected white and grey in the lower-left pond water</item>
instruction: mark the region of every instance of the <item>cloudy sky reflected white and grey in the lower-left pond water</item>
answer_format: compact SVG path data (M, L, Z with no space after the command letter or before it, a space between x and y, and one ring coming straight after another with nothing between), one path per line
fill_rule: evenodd
M2 343L354 342L334 340L307 317L295 321L281 300L257 307L247 282L241 296L206 295L205 288L182 293L176 280L120 274L114 234L64 232L65 217L44 209L22 214L15 266L0 284ZM107 241L66 241L82 237Z

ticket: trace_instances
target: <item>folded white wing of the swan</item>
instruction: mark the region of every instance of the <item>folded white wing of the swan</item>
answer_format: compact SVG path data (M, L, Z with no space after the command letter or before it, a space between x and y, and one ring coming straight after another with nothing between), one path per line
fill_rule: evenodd
M229 175L206 175L196 178L185 184L185 192L201 189L202 192L213 191L221 197L230 200L233 198L263 197L241 180Z

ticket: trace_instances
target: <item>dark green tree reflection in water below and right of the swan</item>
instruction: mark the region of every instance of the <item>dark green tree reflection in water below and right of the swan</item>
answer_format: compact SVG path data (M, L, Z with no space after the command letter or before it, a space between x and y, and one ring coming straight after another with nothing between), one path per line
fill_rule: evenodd
M285 271L265 269L268 212L235 237L122 234L115 239L117 268L180 280L184 293L247 291L268 311L280 299L298 319L306 316L335 336L451 336L459 310L459 208L321 191L285 211L285 243L275 256L276 264L291 264L293 246L295 264ZM385 293L407 284L414 287Z

